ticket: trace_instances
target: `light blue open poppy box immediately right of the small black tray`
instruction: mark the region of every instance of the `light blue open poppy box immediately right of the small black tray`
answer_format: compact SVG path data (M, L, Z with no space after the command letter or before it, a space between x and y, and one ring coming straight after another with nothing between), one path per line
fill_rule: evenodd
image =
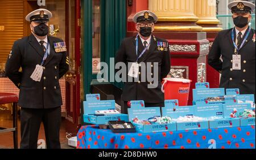
M128 109L129 120L133 122L134 119L148 120L161 117L160 107L145 107L144 101L131 101L131 108ZM168 132L176 131L176 123L167 124L141 124L134 123L137 132L152 133L152 132Z

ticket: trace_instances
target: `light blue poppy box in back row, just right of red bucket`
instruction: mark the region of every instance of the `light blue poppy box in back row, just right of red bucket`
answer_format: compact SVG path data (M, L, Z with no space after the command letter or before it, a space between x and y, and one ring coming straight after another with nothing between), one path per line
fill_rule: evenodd
M206 104L225 103L224 88L209 88L209 83L196 83L196 89L193 89L193 105L197 101L204 101Z

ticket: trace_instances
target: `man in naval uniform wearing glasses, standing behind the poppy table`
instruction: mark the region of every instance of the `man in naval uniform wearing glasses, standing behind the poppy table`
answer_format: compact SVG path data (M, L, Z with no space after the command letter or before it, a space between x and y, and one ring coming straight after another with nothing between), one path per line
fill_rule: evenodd
M137 23L138 34L125 38L117 52L115 62L123 62L127 66L122 113L127 113L130 101L135 100L143 100L146 107L164 106L161 83L171 70L171 59L168 41L152 35L157 20L151 11L135 14L133 21ZM132 81L129 81L130 77ZM155 79L150 80L151 77Z

